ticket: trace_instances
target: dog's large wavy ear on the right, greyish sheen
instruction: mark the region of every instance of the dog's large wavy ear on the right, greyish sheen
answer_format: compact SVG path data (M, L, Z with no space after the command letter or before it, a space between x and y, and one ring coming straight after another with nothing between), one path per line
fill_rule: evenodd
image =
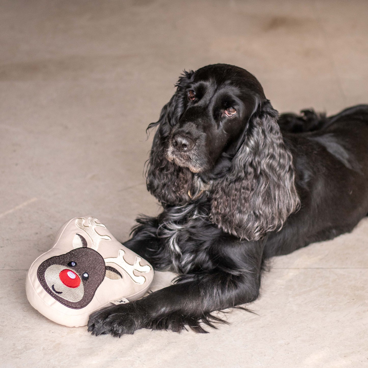
M258 240L281 229L300 204L292 156L277 118L269 101L258 107L229 173L214 187L213 222L241 239Z

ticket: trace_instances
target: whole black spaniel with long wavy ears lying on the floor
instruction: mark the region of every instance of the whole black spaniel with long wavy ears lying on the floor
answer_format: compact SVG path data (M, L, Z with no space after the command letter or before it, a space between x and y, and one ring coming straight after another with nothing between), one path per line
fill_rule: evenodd
M213 311L259 296L270 257L351 231L368 214L368 105L279 116L258 80L227 64L184 71L146 170L162 204L126 247L175 282L94 312L93 335L207 332Z

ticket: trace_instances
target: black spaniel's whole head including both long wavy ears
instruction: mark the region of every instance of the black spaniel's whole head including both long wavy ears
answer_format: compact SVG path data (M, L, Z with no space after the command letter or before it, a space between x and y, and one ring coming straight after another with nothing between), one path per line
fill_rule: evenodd
M147 186L165 205L191 201L207 181L211 219L258 239L298 206L294 170L277 111L248 71L215 64L184 72L161 112Z

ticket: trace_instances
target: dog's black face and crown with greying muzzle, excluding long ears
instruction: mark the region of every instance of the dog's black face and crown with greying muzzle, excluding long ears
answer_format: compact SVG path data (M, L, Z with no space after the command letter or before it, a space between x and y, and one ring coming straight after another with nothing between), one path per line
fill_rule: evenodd
M213 169L234 149L261 100L262 86L244 69L211 65L185 73L177 84L166 158L193 173Z

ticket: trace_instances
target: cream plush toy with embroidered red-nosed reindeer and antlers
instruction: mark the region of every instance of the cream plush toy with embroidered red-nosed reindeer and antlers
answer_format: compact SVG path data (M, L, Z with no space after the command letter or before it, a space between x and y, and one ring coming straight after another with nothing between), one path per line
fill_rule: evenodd
M85 326L93 311L140 298L152 279L152 266L98 219L75 217L60 228L53 248L33 262L26 293L52 321Z

